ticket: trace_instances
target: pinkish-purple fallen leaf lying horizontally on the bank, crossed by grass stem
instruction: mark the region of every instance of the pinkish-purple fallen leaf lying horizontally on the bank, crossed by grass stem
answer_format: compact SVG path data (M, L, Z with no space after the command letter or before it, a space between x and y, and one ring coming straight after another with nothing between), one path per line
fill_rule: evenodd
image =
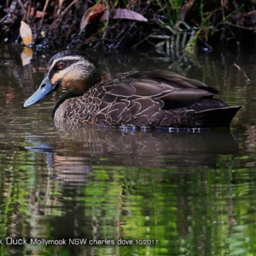
M109 12L106 10L100 20L108 19ZM115 15L113 19L129 19L129 20L138 20L138 21L148 21L143 15L138 12L133 12L127 9L118 8L115 10Z

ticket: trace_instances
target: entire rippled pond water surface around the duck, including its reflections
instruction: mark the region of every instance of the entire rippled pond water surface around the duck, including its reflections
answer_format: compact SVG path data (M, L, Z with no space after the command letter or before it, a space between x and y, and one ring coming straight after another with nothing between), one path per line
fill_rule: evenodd
M0 255L256 255L255 56L97 57L105 77L172 70L243 106L230 131L177 132L56 126L61 92L22 109L49 58L0 52Z

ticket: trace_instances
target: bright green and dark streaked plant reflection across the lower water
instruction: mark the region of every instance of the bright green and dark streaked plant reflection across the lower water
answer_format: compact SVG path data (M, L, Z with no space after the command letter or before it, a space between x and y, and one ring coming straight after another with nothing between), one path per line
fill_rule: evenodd
M232 168L241 157L220 156L216 169L202 170L95 165L73 189L45 178L42 165L33 171L22 164L43 158L20 152L1 165L1 237L68 241L77 234L115 245L3 245L2 255L255 254L255 183L250 172ZM118 246L118 239L132 245Z

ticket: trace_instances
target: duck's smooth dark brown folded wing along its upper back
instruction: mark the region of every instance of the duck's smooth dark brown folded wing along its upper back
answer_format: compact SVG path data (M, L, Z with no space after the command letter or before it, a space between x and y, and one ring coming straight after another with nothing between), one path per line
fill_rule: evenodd
M164 109L182 108L220 93L200 81L173 72L127 72L104 87L109 96L161 99Z

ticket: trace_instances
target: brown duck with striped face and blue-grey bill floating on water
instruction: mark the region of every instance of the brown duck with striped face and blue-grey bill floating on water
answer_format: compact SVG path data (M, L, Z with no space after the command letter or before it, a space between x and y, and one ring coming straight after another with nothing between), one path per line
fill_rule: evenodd
M103 127L229 128L241 106L228 106L219 90L170 71L132 70L101 81L95 62L80 51L52 56L28 108L59 88L72 88L52 110L54 122Z

